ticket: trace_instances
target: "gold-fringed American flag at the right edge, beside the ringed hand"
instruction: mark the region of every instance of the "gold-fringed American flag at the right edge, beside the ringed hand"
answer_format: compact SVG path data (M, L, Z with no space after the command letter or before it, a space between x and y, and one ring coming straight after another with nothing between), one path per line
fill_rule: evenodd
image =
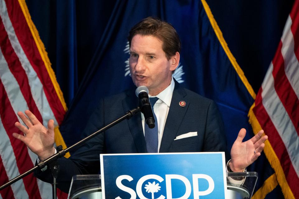
M265 154L275 170L268 187L299 198L299 0L287 18L275 56L249 112L254 132L269 139ZM260 197L262 198L262 197Z

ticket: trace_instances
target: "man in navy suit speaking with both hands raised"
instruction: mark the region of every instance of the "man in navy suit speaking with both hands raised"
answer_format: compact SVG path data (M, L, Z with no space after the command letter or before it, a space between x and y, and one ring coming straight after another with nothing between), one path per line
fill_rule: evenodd
M180 60L180 40L175 29L167 22L148 17L135 25L128 37L130 44L130 72L135 86L146 86L157 120L155 130L145 124L139 113L123 121L80 147L69 159L59 159L61 167L58 187L67 192L75 174L97 174L101 153L146 152L201 152L226 151L223 122L216 104L181 87L172 73ZM89 119L84 136L97 131L122 116L138 104L135 88L121 94L101 99ZM18 115L26 124L15 125L24 133L13 136L23 141L39 160L55 153L54 121L44 127L29 111ZM241 129L231 149L228 169L243 171L260 155L267 136L260 131L242 142L245 129ZM226 153L226 156L229 156ZM48 169L49 170L49 169ZM49 171L39 171L37 176L51 182Z

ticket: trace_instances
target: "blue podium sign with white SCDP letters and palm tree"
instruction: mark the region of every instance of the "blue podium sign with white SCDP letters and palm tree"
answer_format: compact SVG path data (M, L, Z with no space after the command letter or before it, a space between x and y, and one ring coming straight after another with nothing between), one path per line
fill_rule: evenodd
M101 154L102 197L225 198L224 152Z

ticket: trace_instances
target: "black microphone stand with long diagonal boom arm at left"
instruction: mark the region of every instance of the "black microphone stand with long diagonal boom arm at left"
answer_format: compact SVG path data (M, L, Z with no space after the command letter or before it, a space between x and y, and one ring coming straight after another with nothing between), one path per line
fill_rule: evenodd
M141 107L142 109L142 107ZM18 180L24 178L25 176L31 174L33 171L35 171L36 169L43 169L45 168L45 166L49 166L51 169L51 174L53 175L53 199L57 198L57 193L56 193L56 178L58 176L58 172L60 169L60 166L57 163L57 159L61 158L62 156L64 156L67 152L69 152L70 150L74 149L75 147L85 143L86 141L90 140L91 138L99 135L101 132L104 132L105 130L107 130L108 128L113 127L114 125L116 125L117 123L120 123L121 121L125 120L125 119L130 119L132 118L135 114L140 112L140 107L137 107L135 109L129 110L128 112L126 112L126 114L118 119L116 119L115 121L113 121L112 123L108 124L107 126L101 128L100 130L94 132L93 134L89 135L88 137L84 138L81 141L78 141L77 143L75 143L74 145L66 148L66 149L62 149L62 146L58 146L57 147L57 153L55 153L54 155L50 156L49 158L45 159L44 161L40 161L35 167L33 167L32 169L26 171L25 173L13 178L12 180L8 181L7 183L3 184L0 187L0 191L8 186L10 186L11 184L17 182Z

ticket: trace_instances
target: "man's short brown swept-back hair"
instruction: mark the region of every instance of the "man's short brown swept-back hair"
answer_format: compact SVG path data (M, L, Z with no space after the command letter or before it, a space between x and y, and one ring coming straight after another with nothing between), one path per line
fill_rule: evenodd
M151 35L163 42L162 49L169 60L176 52L181 50L181 41L173 26L158 18L147 17L136 24L129 32L128 40L131 47L135 35Z

